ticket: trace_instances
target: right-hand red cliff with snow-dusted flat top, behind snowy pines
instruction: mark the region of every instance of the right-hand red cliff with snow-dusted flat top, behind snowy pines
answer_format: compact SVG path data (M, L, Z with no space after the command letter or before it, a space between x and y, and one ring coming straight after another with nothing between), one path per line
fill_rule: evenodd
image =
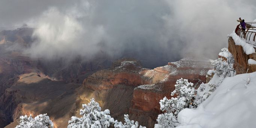
M166 74L160 82L152 85L141 85L134 89L132 105L130 108L131 119L139 121L140 124L149 128L154 127L160 110L160 100L164 96L170 98L170 93L175 90L176 80L180 78L188 79L188 81L198 86L206 81L206 73L211 69L209 60L199 60L194 58L181 59L178 62L168 63L167 66L153 69L155 74ZM144 72L150 74L152 70ZM152 78L154 79L154 77ZM160 79L159 79L160 80Z

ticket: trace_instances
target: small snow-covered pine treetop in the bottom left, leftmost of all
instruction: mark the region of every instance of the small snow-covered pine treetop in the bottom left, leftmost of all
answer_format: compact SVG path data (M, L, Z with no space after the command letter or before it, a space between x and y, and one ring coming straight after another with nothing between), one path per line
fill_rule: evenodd
M19 125L15 128L53 128L53 122L47 114L40 114L35 118L33 118L32 115L30 115L29 118L25 115L20 116Z

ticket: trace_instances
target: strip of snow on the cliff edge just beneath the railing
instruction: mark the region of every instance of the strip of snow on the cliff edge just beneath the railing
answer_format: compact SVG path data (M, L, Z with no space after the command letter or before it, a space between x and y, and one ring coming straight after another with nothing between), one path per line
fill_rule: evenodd
M234 31L229 36L233 38L236 45L242 46L246 54L255 53L253 45L246 43L245 39L240 38Z

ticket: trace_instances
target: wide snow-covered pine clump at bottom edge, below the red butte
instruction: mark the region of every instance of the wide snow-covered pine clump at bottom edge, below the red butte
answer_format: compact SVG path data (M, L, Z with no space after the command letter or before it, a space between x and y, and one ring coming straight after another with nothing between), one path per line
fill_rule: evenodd
M71 121L68 121L68 128L146 128L139 125L139 122L131 121L129 115L125 115L125 123L114 121L111 118L108 109L101 111L101 107L94 99L90 99L90 103L83 104L83 109L80 110L81 118L72 116Z

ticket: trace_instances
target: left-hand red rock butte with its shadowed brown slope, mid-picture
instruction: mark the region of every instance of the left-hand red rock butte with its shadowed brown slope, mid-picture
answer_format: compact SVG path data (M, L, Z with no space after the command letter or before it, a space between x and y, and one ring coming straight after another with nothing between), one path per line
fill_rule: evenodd
M148 69L141 68L134 59L128 60L117 60L111 69L95 72L84 79L83 85L77 89L80 100L87 103L94 98L103 110L109 109L113 113L112 117L123 120L123 115L129 113L134 88L152 82L140 74Z

